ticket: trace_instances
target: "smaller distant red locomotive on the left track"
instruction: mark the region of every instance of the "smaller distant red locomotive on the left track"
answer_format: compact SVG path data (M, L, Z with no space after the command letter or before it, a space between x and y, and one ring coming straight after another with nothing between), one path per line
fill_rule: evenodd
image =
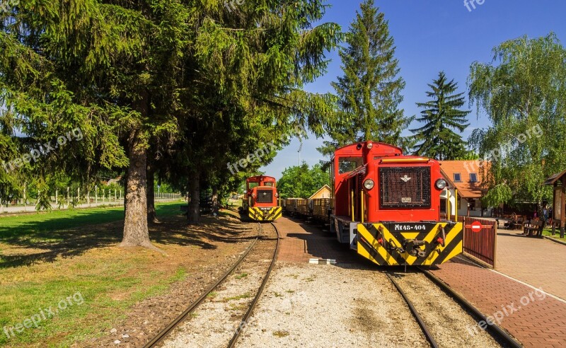
M246 195L242 208L253 221L275 221L282 214L278 198L275 178L265 175L253 176L246 179Z

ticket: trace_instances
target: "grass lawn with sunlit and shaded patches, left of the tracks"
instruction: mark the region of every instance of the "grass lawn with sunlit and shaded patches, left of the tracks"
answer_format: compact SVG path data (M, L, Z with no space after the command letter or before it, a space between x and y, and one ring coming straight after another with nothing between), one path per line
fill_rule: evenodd
M180 215L180 204L158 204L158 217ZM96 337L137 301L187 277L171 257L118 248L123 217L116 207L0 218L1 346L68 347Z

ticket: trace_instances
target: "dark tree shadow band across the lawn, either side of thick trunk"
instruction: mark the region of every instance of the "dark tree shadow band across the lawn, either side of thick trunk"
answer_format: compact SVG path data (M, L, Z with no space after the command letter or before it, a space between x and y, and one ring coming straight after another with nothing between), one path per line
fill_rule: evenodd
M114 213L108 211L107 213ZM123 219L123 212L112 219ZM64 257L83 255L93 248L116 246L122 240L124 222L112 221L104 211L85 218L60 217L26 221L18 226L0 226L0 269L54 262ZM151 241L161 245L193 245L216 249L216 243L240 243L246 228L228 219L203 219L202 226L187 226L183 216L163 218L163 224L149 226ZM98 223L98 224L97 224ZM79 226L79 227L77 227ZM249 234L249 233L248 233Z

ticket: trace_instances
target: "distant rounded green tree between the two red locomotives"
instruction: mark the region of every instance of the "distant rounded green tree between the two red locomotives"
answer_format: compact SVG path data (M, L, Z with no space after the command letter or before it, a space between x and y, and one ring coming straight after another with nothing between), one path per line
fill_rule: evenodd
M286 168L277 182L279 195L284 198L308 198L324 185L329 185L329 173L316 164L308 168L303 162L301 166Z

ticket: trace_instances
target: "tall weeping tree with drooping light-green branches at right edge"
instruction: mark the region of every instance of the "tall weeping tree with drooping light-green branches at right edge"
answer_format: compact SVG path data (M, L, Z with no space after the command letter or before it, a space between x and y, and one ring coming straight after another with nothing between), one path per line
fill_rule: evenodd
M469 139L490 162L485 199L541 202L541 183L566 168L566 50L550 33L503 42L493 55L472 64L468 80L470 102L492 122Z

